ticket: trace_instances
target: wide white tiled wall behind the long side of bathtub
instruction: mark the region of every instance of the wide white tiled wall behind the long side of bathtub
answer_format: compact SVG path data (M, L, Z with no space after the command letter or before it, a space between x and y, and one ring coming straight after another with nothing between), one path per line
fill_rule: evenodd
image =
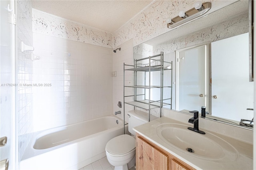
M51 85L34 87L34 131L113 113L112 49L39 33L33 37L34 53L40 55L34 83Z

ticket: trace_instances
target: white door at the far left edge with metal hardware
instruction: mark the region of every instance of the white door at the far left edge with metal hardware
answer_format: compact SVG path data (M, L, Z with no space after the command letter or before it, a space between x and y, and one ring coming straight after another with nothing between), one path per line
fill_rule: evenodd
M1 170L4 168L5 160L8 159L9 169L14 169L14 159L12 158L14 151L14 134L12 127L12 116L14 111L14 89L12 86L12 12L8 12L12 8L11 1L0 0L0 138L7 137L5 146L0 147Z

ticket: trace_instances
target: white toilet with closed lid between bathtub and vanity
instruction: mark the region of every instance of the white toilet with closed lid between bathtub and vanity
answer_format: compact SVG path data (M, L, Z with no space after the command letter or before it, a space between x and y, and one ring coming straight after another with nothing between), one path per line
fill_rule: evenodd
M132 110L128 114L128 130L133 136L128 134L116 136L108 141L105 148L108 162L115 167L115 170L128 170L135 165L136 132L132 128L148 122L148 113ZM150 115L150 120L154 119L157 117Z

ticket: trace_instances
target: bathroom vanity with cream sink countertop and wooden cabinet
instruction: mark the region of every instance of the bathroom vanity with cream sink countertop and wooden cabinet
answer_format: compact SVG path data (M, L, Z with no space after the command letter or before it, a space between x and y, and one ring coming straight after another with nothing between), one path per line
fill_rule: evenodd
M188 130L191 115L168 110L164 115L134 128L137 169L253 168L253 130L199 118L206 133L199 134Z

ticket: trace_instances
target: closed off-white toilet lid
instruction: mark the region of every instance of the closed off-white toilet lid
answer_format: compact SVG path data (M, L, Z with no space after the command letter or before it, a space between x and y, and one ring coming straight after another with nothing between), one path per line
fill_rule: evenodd
M135 139L128 135L128 134L122 134L120 136L116 136L112 138L108 143L106 144L106 150L110 154L125 154L130 152L135 148Z

